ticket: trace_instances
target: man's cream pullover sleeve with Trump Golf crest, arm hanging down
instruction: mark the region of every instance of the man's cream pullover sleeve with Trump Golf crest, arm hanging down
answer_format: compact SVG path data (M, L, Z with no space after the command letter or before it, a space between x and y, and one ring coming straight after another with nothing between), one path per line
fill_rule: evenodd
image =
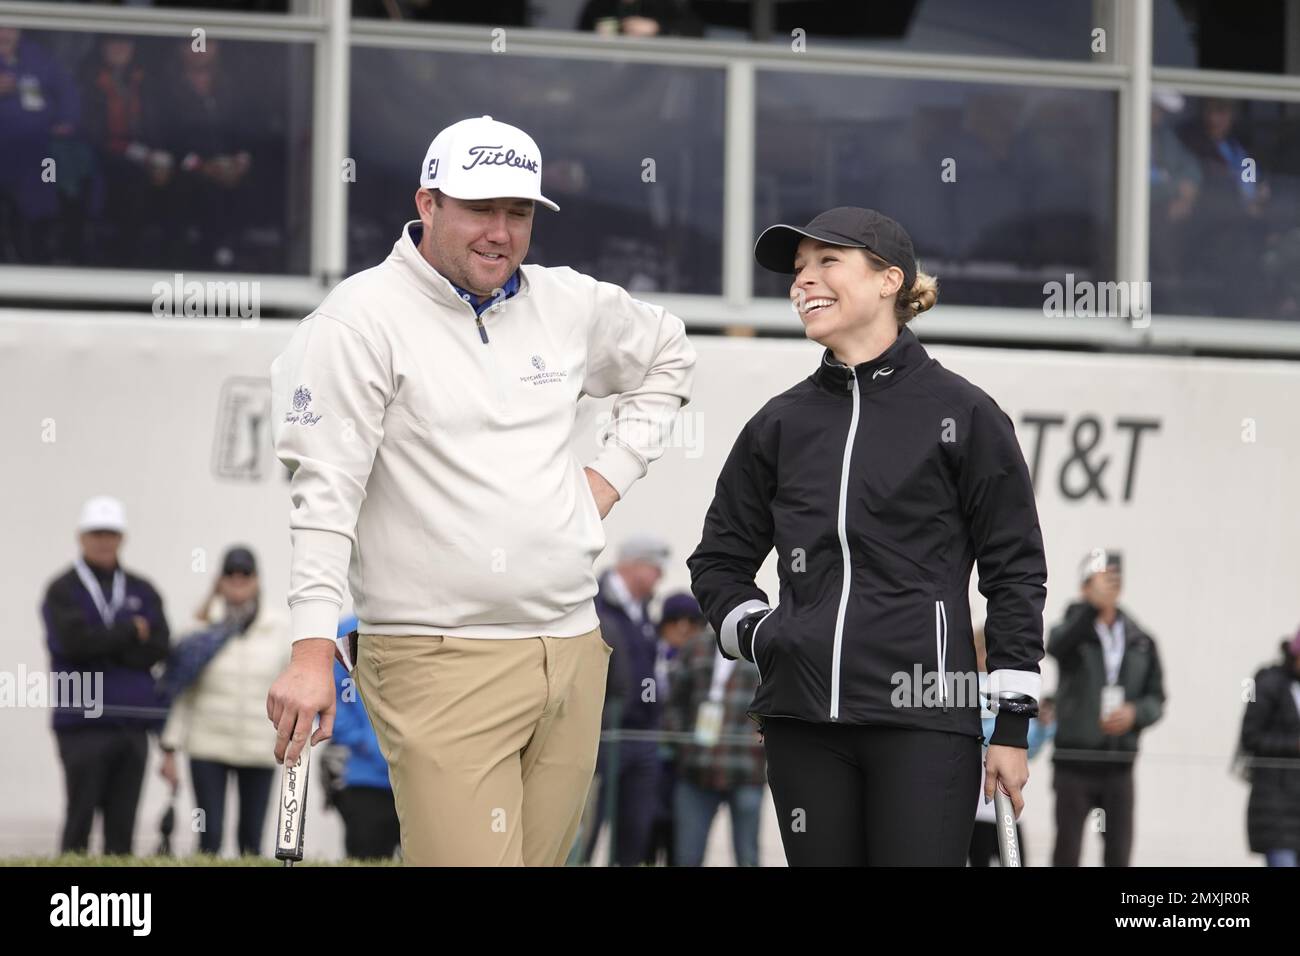
M391 363L364 336L320 312L270 367L276 455L292 472L290 635L334 639L356 542L356 516L384 437Z

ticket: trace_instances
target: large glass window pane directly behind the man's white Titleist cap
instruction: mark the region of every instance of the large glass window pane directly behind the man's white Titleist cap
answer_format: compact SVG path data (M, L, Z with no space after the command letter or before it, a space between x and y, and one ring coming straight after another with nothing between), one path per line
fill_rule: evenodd
M443 126L493 116L542 151L528 261L632 291L722 293L720 69L358 47L348 268L384 259L416 217L420 161Z

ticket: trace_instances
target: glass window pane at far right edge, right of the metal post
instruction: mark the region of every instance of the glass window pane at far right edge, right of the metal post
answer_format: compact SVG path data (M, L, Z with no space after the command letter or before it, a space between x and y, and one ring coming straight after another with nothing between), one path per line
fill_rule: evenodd
M1300 319L1300 103L1153 100L1152 310Z

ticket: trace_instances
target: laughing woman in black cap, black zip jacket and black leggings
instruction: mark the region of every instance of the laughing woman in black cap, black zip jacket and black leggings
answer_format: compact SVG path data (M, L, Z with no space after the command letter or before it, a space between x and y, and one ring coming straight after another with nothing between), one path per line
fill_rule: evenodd
M764 405L718 479L692 588L725 657L760 672L751 715L792 865L961 866L980 786L967 601L988 598L997 708L984 795L1028 779L1046 566L1010 419L906 328L935 304L911 239L840 207L767 229L816 371ZM754 578L776 548L780 602Z

